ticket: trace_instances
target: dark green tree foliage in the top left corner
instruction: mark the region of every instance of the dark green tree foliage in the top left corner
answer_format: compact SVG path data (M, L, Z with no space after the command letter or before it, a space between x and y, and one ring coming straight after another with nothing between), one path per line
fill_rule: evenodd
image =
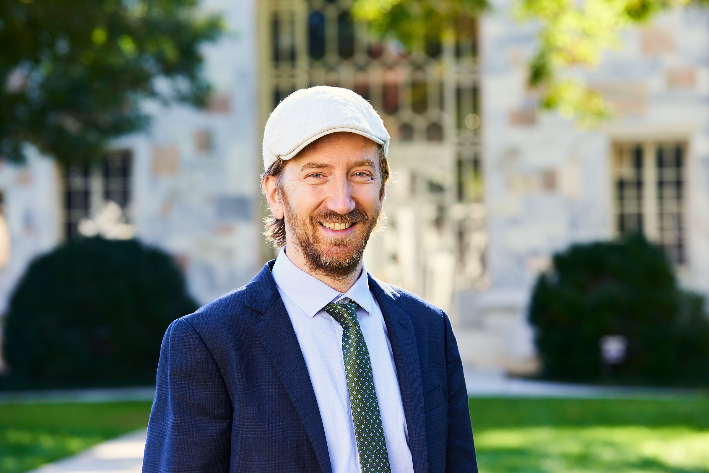
M0 156L31 143L58 161L100 157L140 130L143 99L201 106L199 46L222 31L197 0L0 1Z

